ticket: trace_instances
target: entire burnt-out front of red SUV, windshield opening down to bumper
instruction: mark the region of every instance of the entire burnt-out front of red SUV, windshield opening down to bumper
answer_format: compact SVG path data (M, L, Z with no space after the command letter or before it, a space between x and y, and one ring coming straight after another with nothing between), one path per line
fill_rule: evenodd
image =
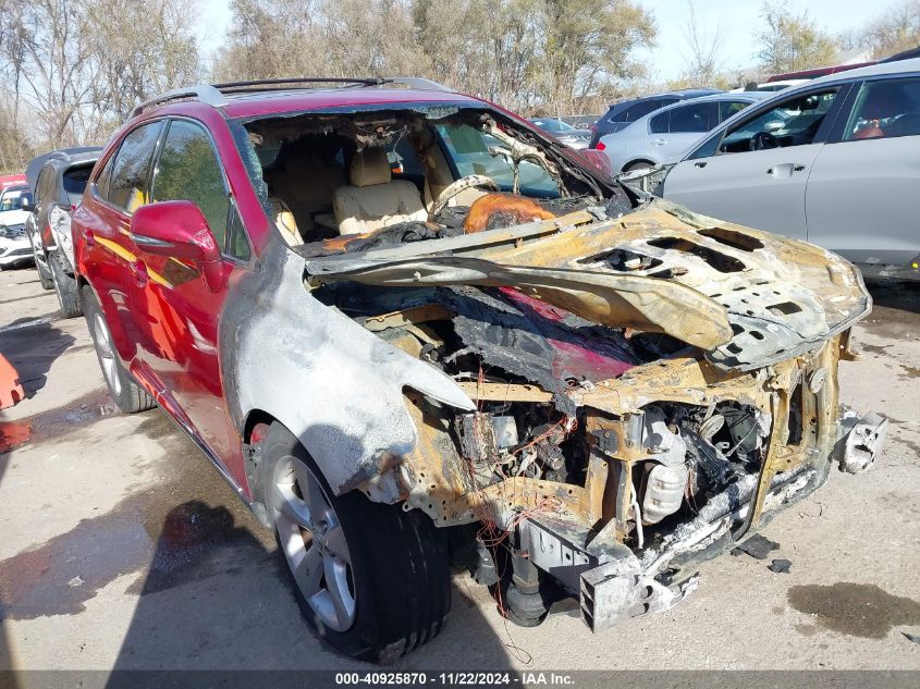
M874 460L886 420L838 402L871 310L849 262L590 174L498 111L389 108L234 122L287 245L228 298L241 428L266 409L336 494L462 534L516 620L571 595L594 630L671 607L833 460Z

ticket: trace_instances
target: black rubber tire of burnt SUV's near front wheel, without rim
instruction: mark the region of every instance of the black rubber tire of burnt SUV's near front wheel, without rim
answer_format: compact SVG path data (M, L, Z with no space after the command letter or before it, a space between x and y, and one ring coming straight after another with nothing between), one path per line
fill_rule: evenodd
M306 450L278 422L272 423L261 455L261 485L279 556L310 626L342 653L373 663L392 662L433 639L451 607L446 533L417 509L405 512L400 505L373 503L359 491L334 496ZM275 481L292 458L306 465L318 479L347 542L354 622L342 631L322 624L302 592L281 542Z

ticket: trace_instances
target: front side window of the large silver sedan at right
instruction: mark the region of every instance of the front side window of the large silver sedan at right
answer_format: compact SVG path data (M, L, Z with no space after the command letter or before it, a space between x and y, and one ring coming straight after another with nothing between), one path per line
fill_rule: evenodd
M729 130L719 146L721 153L811 144L834 104L839 87L800 94Z

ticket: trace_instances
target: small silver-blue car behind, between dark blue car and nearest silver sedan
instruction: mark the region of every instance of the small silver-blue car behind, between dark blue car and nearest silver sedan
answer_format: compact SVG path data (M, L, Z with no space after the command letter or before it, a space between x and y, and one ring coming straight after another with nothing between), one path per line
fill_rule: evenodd
M613 174L677 162L707 132L768 96L745 91L682 100L604 134L598 150L610 158Z

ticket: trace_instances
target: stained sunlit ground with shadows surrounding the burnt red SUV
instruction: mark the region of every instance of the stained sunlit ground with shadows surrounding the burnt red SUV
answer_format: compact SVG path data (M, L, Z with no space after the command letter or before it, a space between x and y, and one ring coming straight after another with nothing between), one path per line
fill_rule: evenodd
M165 415L114 410L83 319L30 268L0 287L28 396L0 423L0 668L367 669L308 629L273 539ZM597 636L565 605L505 625L457 574L445 631L390 669L920 669L920 288L872 292L843 397L891 418L888 444L763 529L789 574L726 555L675 608Z

